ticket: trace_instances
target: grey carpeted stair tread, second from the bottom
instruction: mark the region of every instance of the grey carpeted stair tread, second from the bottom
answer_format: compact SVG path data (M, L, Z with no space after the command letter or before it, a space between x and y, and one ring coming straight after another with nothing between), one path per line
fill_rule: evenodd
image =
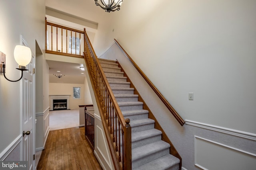
M141 147L132 149L132 161L143 158L144 156L154 154L170 147L169 143L164 141L156 141Z

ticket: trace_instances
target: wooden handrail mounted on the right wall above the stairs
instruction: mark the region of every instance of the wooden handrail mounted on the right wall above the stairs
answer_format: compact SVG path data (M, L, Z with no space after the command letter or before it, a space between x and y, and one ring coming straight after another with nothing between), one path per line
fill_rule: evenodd
M180 117L180 115L177 113L177 111L171 106L171 104L164 98L164 96L160 93L160 91L154 86L154 84L149 80L149 78L144 74L144 72L139 68L139 66L132 60L132 58L126 53L126 51L123 49L123 47L114 39L116 44L122 49L126 57L129 59L129 61L132 63L132 65L138 70L138 72L141 74L141 76L146 80L148 85L154 90L156 95L160 98L160 100L164 103L164 105L168 108L168 110L172 113L172 115L175 117L175 119L180 123L180 125L184 125L186 122Z

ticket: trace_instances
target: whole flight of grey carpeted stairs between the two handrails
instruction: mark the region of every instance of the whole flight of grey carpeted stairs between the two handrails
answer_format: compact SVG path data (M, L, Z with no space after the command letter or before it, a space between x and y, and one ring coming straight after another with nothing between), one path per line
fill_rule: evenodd
M162 132L154 129L155 121L138 101L134 88L124 77L116 61L99 59L124 118L132 127L133 170L178 170L180 160L170 154L170 144L161 140Z

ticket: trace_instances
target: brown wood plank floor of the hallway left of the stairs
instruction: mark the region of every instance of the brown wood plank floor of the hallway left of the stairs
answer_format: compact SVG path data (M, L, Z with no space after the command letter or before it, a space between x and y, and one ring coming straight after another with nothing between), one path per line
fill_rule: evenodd
M101 170L84 127L50 131L37 170Z

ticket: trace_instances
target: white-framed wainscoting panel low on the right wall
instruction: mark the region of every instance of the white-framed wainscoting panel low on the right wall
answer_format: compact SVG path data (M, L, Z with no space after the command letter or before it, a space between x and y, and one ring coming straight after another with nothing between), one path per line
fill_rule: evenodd
M256 154L195 136L195 165L204 170L253 170Z

